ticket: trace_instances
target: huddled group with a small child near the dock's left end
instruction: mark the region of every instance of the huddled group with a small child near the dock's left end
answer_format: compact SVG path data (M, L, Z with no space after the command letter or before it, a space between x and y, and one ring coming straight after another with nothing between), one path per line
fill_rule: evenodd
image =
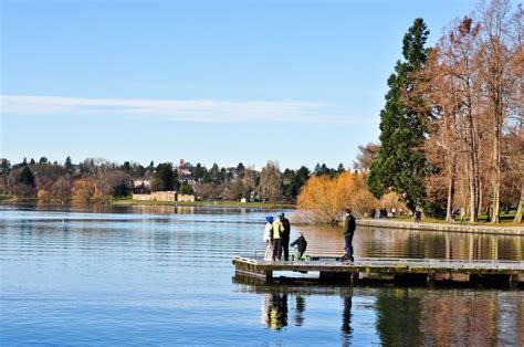
M280 261L282 256L284 261L290 260L290 235L291 223L284 213L280 213L276 218L272 215L265 217L264 242L266 261ZM304 254L307 242L304 235L300 232L298 238L291 243L291 246L296 245L298 249L298 259Z

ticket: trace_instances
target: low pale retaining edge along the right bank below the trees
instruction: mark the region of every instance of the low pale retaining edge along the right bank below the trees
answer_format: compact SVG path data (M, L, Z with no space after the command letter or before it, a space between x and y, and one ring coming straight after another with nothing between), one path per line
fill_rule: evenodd
M514 225L459 225L425 222L415 223L387 219L357 219L356 222L358 227L524 236L524 227Z

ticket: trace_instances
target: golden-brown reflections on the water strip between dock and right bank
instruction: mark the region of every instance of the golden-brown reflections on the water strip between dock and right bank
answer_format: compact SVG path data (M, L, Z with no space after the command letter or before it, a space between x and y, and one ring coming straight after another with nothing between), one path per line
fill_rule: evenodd
M294 228L297 231L306 238L310 255L344 253L339 228ZM514 235L358 227L353 243L357 257L524 260L524 238Z

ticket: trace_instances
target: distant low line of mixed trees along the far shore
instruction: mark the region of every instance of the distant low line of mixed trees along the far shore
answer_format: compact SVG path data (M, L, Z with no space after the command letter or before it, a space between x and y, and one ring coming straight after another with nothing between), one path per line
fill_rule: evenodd
M148 167L126 161L123 165L88 158L73 164L67 157L63 165L42 157L13 166L2 161L0 193L43 201L107 202L128 197L133 192L176 190L196 194L201 200L262 200L294 202L310 176L336 177L344 171L325 164L314 171L305 166L298 170L280 170L276 161L269 161L261 171L239 164L234 168L210 169L197 164L175 168L170 162ZM147 183L146 183L147 182Z

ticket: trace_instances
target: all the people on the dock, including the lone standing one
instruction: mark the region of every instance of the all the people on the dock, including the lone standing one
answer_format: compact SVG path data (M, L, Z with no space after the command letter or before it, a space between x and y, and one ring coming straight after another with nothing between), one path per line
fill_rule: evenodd
M342 256L342 261L354 262L353 256L353 235L356 230L356 221L353 217L350 209L345 209L344 211L344 224L343 224L343 234L344 234L344 250L345 254ZM281 261L282 256L284 261L290 260L290 234L291 234L291 223L290 220L285 218L284 213L280 213L276 218L272 215L265 217L265 228L264 228L264 242L265 242L265 261ZM291 243L291 246L297 246L296 259L302 259L306 246L307 241L305 240L302 232L298 232L298 236L295 241Z

